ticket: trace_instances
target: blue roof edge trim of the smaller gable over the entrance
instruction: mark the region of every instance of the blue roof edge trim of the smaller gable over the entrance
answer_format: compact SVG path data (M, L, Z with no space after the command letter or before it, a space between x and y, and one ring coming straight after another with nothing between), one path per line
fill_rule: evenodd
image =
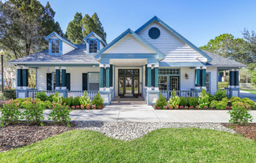
M120 34L119 37L115 38L112 42L110 42L107 46L104 47L104 49L101 49L100 52L95 54L95 58L99 59L101 57L101 54L104 53L107 49L111 48L112 45L115 45L115 43L119 42L122 38L124 38L127 34L132 34L134 38L137 38L138 41L142 42L144 45L148 46L149 49L152 49L155 53L159 54L159 58L164 58L165 55L159 51L159 49L156 49L155 46L148 43L146 40L141 38L138 34L136 34L134 31L132 31L130 28L128 28L123 34Z

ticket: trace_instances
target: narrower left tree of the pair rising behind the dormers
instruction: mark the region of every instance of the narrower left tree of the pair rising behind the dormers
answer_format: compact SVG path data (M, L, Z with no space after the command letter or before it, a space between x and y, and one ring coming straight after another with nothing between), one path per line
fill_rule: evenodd
M69 22L67 28L68 39L74 44L82 44L82 13L75 13L74 20Z

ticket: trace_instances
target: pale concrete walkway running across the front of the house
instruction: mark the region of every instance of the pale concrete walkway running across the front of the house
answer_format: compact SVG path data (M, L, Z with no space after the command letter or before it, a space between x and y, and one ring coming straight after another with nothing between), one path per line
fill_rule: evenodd
M44 112L48 116L50 110ZM256 122L256 110L251 110ZM143 103L108 105L104 110L73 110L72 121L229 122L228 110L154 110Z

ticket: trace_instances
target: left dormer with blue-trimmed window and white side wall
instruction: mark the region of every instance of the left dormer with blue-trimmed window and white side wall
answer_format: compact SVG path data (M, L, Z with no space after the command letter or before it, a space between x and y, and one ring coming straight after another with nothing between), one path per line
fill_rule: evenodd
M46 37L46 41L49 42L49 55L64 55L74 49L78 49L76 45L68 42L55 31Z

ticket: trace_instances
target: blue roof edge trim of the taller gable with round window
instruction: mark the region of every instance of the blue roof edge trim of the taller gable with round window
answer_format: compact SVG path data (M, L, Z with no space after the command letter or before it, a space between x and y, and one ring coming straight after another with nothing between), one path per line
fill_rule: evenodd
M190 47L192 47L192 49L195 49L196 52L198 52L199 54L201 54L202 56L207 58L207 61L210 62L212 60L212 58L210 56L208 56L206 53L204 53L201 49L199 49L198 47L196 47L196 45L193 45L192 42L189 42L186 38L184 38L181 34L177 33L177 31L175 31L173 28L171 28L170 26L168 26L167 24L165 24L162 20L160 20L157 16L152 17L151 20L148 20L147 23L145 23L144 25L142 25L141 27L139 27L135 33L138 34L140 31L142 31L145 27L147 27L149 24L152 24L153 21L157 21L159 24L163 25L163 27L165 27L168 31L170 31L172 34L174 34L177 38L180 38L181 41L185 42L186 44L188 44Z

